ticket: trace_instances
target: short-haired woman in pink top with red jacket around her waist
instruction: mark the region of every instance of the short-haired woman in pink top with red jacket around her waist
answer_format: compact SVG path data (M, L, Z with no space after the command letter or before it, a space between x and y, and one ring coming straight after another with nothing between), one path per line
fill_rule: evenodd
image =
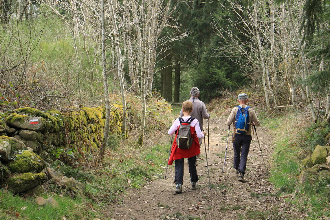
M196 155L200 153L199 146L199 138L204 138L206 132L202 132L198 120L196 118L190 117L190 113L193 110L193 104L190 101L184 101L182 103L182 112L183 115L181 118L175 119L172 122L171 128L168 130L169 135L173 135L176 132L175 139L173 141L172 150L170 154L170 158L168 161L168 165L173 164L173 160L175 161L175 179L174 183L176 184L175 192L182 193L182 181L183 181L183 161L184 158L188 158L188 169L190 173L190 182L191 189L197 189L197 181L198 175L196 170ZM183 120L183 121L182 121ZM190 123L190 137L192 140L190 141L189 149L182 149L178 146L178 134L181 133L180 126L189 125ZM180 131L180 132L179 132ZM180 134L179 134L180 135ZM180 136L179 136L180 137ZM188 141L189 142L189 141ZM179 143L181 144L182 142ZM189 144L189 143L188 143Z

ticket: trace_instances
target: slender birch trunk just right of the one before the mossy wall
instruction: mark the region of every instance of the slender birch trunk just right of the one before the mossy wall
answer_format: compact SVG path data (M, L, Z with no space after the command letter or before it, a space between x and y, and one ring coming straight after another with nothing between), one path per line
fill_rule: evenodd
M116 21L116 13L115 13L115 5L112 0L109 1L110 3L110 11L112 14L112 23L114 29L114 38L115 38L115 47L116 47L116 55L117 55L117 71L118 71L118 78L119 78L119 85L120 85L120 94L121 94L121 102L123 105L123 118L122 118L122 128L121 133L126 134L126 96L125 96L125 85L124 85L124 74L122 70L122 56L119 47L119 32L117 27Z

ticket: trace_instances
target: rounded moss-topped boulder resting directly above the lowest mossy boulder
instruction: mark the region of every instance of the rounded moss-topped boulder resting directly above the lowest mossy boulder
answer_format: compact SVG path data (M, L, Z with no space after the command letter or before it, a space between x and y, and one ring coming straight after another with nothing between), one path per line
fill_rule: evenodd
M41 157L28 150L18 151L8 163L12 173L40 172L45 166Z

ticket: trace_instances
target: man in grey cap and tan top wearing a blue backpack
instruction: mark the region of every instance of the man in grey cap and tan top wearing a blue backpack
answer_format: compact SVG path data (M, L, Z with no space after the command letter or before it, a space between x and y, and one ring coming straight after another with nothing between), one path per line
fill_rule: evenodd
M239 102L239 106L234 107L231 110L231 113L227 119L227 125L229 126L231 123L233 123L236 120L236 115L239 110L239 108L247 108L246 105L248 102L248 95L245 93L241 93L238 95L237 101ZM260 126L260 121L257 118L257 115L255 114L254 110L250 107L248 107L248 127L247 131L241 131L242 129L236 130L236 127L234 126L234 132L233 132L233 147L234 147L234 170L236 173L236 177L238 177L238 181L244 182L244 175L245 175L245 169L247 166L247 157L248 157L248 151L250 149L250 144L252 140L252 129L253 126L251 123L253 123L255 126ZM243 129L244 130L244 129Z

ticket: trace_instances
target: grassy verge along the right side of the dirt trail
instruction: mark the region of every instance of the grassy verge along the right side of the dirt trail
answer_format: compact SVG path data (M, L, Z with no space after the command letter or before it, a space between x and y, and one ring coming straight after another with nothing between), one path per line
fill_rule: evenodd
M321 122L309 125L295 115L263 117L261 120L275 137L270 181L279 188L278 194L295 204L298 211L307 213L309 219L330 216L329 185L301 183L298 178L303 169L301 159L317 144L325 144L329 127Z

